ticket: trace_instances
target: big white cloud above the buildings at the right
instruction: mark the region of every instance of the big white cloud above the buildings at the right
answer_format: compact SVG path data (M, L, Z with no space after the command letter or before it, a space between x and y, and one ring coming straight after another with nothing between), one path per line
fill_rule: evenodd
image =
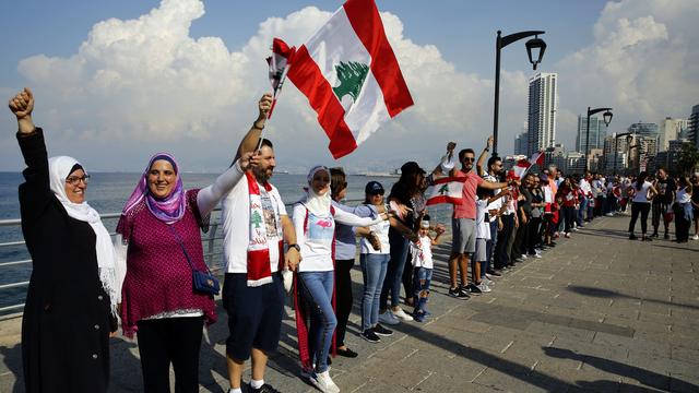
M561 104L614 108L611 131L638 120L686 117L699 86L699 7L696 0L609 2L594 25L594 41L556 68ZM574 128L573 128L574 130Z

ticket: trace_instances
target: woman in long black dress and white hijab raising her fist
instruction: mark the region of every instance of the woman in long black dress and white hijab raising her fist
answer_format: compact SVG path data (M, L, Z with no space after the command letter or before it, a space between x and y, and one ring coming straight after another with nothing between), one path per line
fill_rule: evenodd
M22 321L26 392L106 392L123 264L85 202L90 175L74 158L47 158L44 133L32 120L32 92L20 92L9 106L27 165L20 186L33 263Z

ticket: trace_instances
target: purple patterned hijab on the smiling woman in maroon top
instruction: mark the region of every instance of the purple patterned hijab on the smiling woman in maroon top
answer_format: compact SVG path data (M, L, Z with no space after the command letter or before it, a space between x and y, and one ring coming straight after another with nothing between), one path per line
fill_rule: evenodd
M175 189L173 189L173 192L169 195L162 199L155 198L151 194L147 183L151 166L158 159L165 159L170 163L173 165L173 169L175 169L175 174L177 175ZM182 188L182 178L179 176L179 166L177 165L175 157L170 154L158 153L151 157L149 165L145 167L145 171L141 176L141 180L139 180L135 189L129 198L129 201L127 201L127 204L123 206L121 215L126 215L143 199L145 199L145 205L149 207L151 213L165 224L175 224L185 215L187 200L185 198L185 189Z

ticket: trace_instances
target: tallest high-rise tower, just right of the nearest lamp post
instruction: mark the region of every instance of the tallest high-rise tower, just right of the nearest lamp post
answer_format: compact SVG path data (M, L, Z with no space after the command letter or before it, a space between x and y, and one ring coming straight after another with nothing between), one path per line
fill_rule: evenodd
M558 74L538 73L529 81L526 155L546 150L556 140Z

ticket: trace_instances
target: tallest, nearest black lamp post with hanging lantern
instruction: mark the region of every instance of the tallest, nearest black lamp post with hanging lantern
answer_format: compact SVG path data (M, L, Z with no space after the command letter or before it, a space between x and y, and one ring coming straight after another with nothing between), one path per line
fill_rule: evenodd
M536 70L536 64L542 62L544 58L544 51L546 50L546 43L543 39L538 38L540 34L544 34L546 32L542 31L530 31L530 32L520 32L507 35L501 37L501 31L498 31L498 36L495 39L495 106L493 109L493 156L498 155L498 110L500 107L500 50L506 46L520 40L522 38L534 36L534 38L526 41L526 56L529 56L529 61L533 64L534 70ZM536 52L538 51L538 53ZM534 55L532 55L534 52Z

